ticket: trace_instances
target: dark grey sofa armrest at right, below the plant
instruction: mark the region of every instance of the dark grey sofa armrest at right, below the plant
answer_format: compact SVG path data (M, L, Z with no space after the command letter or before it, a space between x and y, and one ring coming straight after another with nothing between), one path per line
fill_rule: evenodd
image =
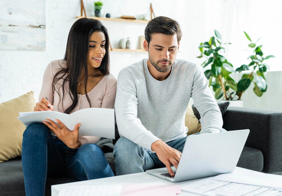
M226 130L249 129L247 147L261 150L263 172L282 171L282 112L229 107L223 118Z

